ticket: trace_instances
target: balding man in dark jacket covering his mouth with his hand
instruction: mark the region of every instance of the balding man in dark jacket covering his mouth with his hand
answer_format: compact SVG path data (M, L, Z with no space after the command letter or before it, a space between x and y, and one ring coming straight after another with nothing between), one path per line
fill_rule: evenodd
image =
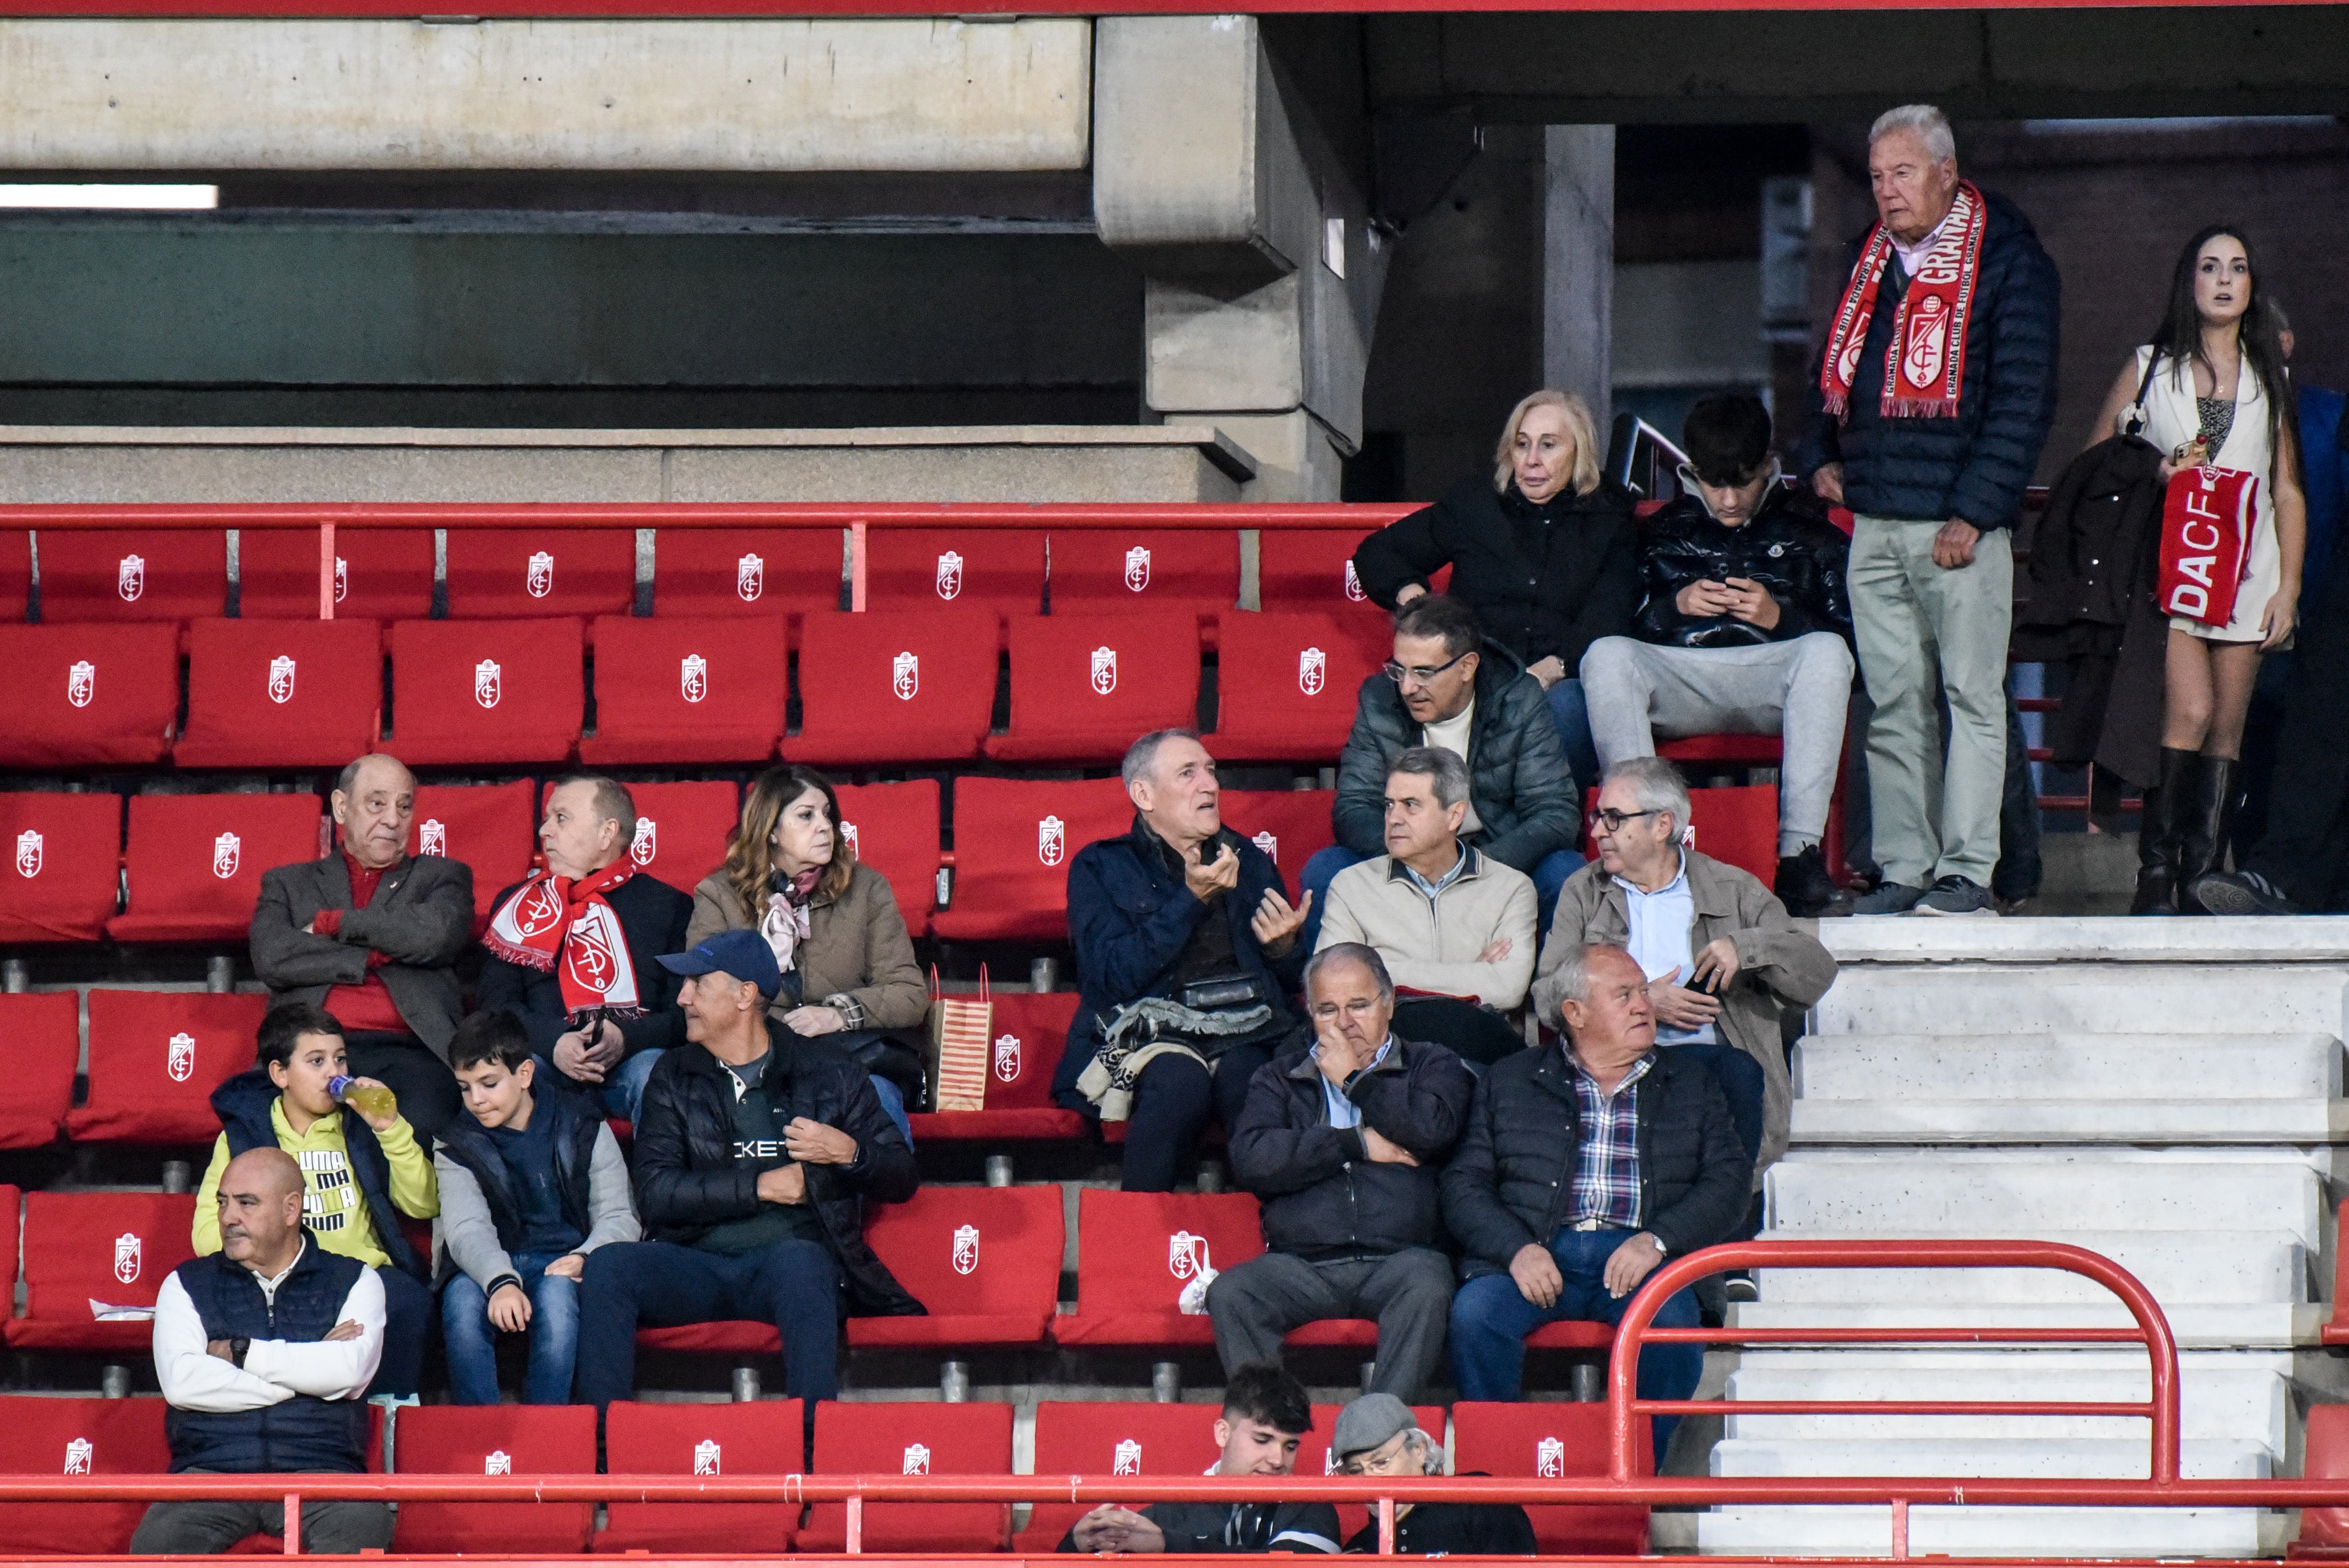
M1374 1387L1409 1401L1445 1354L1452 1261L1435 1169L1475 1080L1445 1047L1395 1038L1377 948L1315 953L1306 1009L1313 1045L1257 1068L1231 1129L1233 1181L1264 1204L1264 1253L1207 1286L1214 1350L1231 1373L1278 1361L1299 1324L1372 1317Z

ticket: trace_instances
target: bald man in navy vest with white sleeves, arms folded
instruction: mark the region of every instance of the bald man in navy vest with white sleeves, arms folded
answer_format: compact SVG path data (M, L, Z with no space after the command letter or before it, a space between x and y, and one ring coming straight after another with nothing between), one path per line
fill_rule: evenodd
M221 1251L171 1270L155 1296L155 1380L171 1404L171 1472L366 1469L366 1392L383 1354L383 1282L303 1223L303 1171L277 1148L228 1162L216 1183ZM132 1552L228 1552L284 1535L284 1500L157 1502ZM303 1502L305 1552L392 1545L383 1502Z

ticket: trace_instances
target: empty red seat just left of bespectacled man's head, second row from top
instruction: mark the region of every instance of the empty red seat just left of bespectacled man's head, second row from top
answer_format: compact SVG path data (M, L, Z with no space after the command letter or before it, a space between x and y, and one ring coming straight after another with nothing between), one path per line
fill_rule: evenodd
M1353 730L1362 681L1391 648L1384 620L1226 615L1217 634L1217 721L1207 749L1224 763L1332 763Z

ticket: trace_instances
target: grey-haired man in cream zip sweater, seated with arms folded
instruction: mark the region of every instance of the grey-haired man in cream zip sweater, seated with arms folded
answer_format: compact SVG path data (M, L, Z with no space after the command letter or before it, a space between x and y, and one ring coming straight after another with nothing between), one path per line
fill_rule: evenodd
M1377 948L1395 979L1395 1033L1433 1040L1470 1063L1522 1049L1501 1014L1534 979L1534 880L1463 845L1468 765L1412 746L1386 775L1386 854L1330 883L1315 951Z

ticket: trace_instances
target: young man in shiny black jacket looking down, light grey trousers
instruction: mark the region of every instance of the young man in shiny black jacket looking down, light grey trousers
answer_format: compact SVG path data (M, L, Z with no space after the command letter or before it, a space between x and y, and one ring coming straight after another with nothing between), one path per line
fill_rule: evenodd
M1600 763L1654 756L1658 737L1783 737L1776 892L1804 918L1849 913L1818 850L1851 711L1849 540L1825 502L1778 484L1759 397L1698 401L1680 439L1682 495L1640 538L1635 636L1583 655Z

